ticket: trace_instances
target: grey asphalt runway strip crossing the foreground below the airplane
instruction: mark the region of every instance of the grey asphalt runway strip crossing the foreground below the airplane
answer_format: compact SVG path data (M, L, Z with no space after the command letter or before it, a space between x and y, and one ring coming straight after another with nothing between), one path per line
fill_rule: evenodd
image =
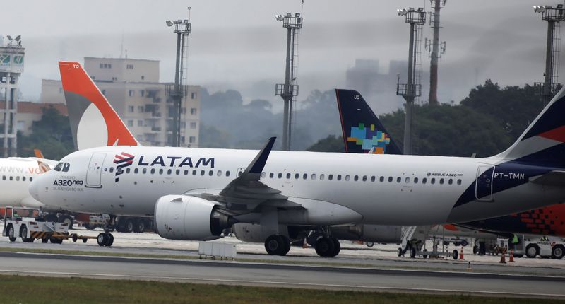
M0 252L0 274L565 298L565 276ZM527 291L527 292L526 292Z

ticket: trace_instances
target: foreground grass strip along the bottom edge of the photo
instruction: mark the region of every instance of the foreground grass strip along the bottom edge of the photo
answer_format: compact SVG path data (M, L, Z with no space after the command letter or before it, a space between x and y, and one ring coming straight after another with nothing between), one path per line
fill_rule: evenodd
M156 281L1 275L2 303L453 303L522 304L532 299L227 286ZM565 303L539 299L536 304Z

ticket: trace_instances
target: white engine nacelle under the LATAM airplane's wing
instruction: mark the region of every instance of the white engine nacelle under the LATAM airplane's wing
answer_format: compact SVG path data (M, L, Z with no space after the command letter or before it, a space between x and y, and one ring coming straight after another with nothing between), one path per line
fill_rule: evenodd
M214 201L189 195L165 195L155 204L155 227L170 240L215 240L235 221Z

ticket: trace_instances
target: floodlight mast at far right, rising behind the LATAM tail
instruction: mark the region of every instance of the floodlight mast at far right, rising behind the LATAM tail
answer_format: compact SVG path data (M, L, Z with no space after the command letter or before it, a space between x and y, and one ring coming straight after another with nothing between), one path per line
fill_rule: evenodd
M542 96L545 103L557 93L559 83L559 41L561 21L565 21L563 4L557 8L552 6L533 6L535 13L542 14L542 20L547 21L547 42L545 49L545 74L543 83L534 83L535 92Z

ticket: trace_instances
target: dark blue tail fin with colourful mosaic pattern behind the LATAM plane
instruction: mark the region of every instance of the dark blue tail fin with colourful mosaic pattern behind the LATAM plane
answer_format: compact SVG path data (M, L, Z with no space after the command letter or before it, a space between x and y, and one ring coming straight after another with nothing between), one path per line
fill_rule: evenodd
M335 89L346 153L402 154L356 90Z

